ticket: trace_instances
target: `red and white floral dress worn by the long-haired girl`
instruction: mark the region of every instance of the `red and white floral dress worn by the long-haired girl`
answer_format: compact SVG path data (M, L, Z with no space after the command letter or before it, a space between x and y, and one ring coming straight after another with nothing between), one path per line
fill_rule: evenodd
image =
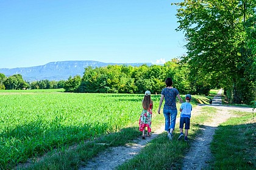
M148 132L151 132L151 118L152 118L152 103L149 105L149 110L143 109L140 115L139 129L142 132L145 127L148 127Z

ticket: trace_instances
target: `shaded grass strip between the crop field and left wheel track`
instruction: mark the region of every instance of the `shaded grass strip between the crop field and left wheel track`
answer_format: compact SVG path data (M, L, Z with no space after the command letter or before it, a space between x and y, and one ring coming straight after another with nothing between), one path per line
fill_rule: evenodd
M20 165L17 169L78 169L81 164L85 164L99 152L109 147L122 146L138 135L140 135L138 127L128 127L95 140L81 142L72 148L63 147L49 152L40 158L40 161L35 158L34 163Z

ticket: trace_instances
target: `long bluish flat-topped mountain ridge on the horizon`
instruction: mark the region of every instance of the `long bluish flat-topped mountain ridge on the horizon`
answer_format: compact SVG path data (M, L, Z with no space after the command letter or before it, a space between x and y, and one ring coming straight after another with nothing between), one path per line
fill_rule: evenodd
M102 63L98 61L57 61L44 64L43 66L34 67L21 67L14 69L0 69L0 73L3 73L6 77L15 74L21 74L26 81L37 80L68 80L69 76L84 75L85 68L91 67L103 67L108 65L123 65L127 66L141 66L142 64L151 63Z

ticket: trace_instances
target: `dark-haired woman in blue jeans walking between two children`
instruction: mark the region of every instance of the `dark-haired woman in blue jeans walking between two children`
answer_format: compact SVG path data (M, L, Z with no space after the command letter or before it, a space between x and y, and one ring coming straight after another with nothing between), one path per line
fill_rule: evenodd
M163 99L165 99L165 105L163 106L163 115L165 116L165 131L168 134L169 140L172 140L177 117L176 97L179 98L180 103L183 103L183 100L179 95L179 91L172 87L173 83L171 78L166 78L165 84L166 87L161 92L158 114L160 114Z

